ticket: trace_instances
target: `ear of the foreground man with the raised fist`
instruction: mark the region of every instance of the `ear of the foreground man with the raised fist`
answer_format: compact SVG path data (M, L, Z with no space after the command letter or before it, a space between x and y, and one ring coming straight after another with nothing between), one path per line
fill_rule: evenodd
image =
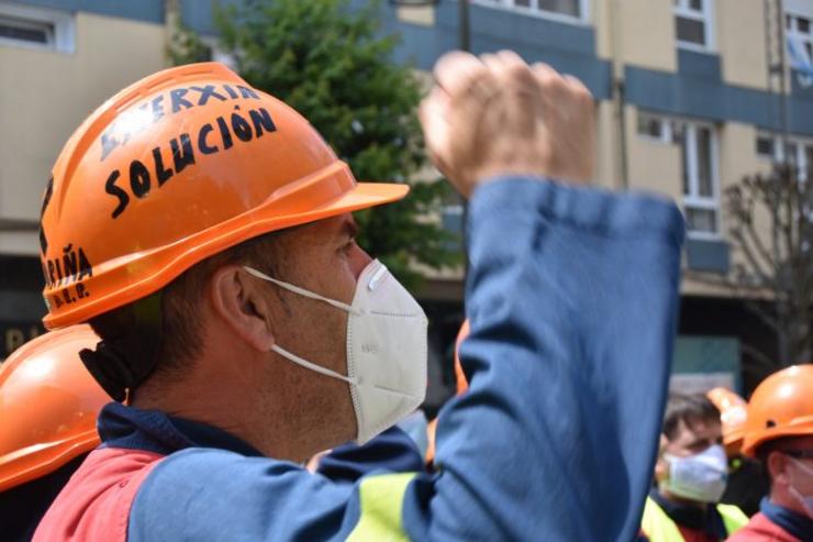
M243 267L227 265L212 274L208 294L216 318L229 330L258 352L268 352L274 345L274 333L263 286Z

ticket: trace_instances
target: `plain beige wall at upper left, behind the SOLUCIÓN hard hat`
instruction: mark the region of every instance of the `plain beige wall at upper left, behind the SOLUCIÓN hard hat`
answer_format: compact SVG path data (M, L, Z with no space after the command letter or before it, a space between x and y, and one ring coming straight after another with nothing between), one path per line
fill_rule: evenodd
M107 98L165 65L163 25L78 12L73 54L0 45L0 218L38 219L51 167ZM35 234L0 233L0 253L36 254Z

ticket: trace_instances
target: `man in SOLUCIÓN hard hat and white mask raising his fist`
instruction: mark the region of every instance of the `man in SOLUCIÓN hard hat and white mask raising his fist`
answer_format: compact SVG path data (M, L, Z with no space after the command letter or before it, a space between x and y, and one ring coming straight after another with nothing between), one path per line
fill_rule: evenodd
M102 342L82 360L129 406L102 409L102 446L35 540L637 532L682 218L572 186L594 154L576 79L506 52L452 54L435 77L422 122L469 198L471 324L439 472L338 484L301 466L423 400L426 318L356 245L350 215L406 187L356 182L296 111L221 65L185 66L92 113L46 190L45 323L90 322Z

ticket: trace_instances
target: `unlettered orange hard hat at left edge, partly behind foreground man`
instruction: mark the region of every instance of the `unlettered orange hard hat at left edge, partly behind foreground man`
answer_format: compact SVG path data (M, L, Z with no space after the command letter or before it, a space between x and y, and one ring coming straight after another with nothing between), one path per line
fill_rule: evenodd
M79 360L98 342L88 325L52 331L0 366L0 491L99 445L96 419L111 399Z

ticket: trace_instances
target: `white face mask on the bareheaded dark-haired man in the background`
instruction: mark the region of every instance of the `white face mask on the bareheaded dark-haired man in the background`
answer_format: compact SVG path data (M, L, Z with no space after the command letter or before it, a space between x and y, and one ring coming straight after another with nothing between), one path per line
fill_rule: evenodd
M664 458L669 463L669 477L660 482L661 489L699 502L717 502L723 496L728 462L720 444L688 457L664 454Z

